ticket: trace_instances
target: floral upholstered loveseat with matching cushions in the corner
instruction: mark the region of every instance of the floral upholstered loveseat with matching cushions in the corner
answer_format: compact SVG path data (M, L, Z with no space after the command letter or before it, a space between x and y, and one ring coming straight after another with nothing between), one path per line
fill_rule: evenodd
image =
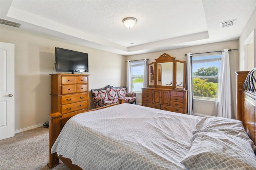
M92 100L95 108L118 103L118 99L124 99L125 103L136 104L136 93L126 92L126 87L106 86L103 89L92 89Z

